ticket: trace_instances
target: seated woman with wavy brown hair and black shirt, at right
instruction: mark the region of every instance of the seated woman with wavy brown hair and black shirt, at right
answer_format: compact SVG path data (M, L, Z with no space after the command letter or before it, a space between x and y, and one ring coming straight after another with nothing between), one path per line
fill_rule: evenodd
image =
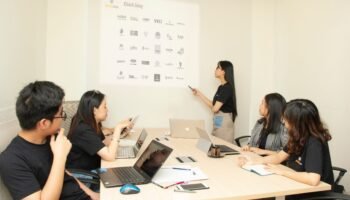
M328 147L328 141L332 137L321 122L315 104L306 99L292 100L287 104L283 118L289 133L288 144L283 150L255 159L239 157L239 165L268 164L267 170L305 184L316 186L324 181L332 185L334 177ZM273 165L283 161L287 161L287 166L295 171ZM287 199L313 195L315 193L294 195Z

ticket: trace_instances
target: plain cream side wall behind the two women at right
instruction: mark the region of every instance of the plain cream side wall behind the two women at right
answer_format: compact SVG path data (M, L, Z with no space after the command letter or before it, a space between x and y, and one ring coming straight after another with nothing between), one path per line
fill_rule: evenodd
M254 1L250 107L254 122L254 101L268 91L311 99L333 135L333 165L348 170L349 10L346 0ZM348 174L342 184L350 189Z

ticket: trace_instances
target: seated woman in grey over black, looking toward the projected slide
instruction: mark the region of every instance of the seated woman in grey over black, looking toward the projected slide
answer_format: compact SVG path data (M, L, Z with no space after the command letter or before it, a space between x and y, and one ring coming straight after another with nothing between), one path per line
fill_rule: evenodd
M288 142L288 132L281 122L286 100L278 93L267 94L261 101L260 118L251 134L244 151L252 151L259 155L271 155L282 150Z

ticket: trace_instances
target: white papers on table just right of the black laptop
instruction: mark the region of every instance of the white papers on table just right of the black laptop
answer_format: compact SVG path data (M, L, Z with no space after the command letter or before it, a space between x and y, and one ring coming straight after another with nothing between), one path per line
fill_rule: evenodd
M160 168L157 174L153 177L152 182L161 187L167 187L172 183L205 179L208 179L208 176L198 167L174 165Z

